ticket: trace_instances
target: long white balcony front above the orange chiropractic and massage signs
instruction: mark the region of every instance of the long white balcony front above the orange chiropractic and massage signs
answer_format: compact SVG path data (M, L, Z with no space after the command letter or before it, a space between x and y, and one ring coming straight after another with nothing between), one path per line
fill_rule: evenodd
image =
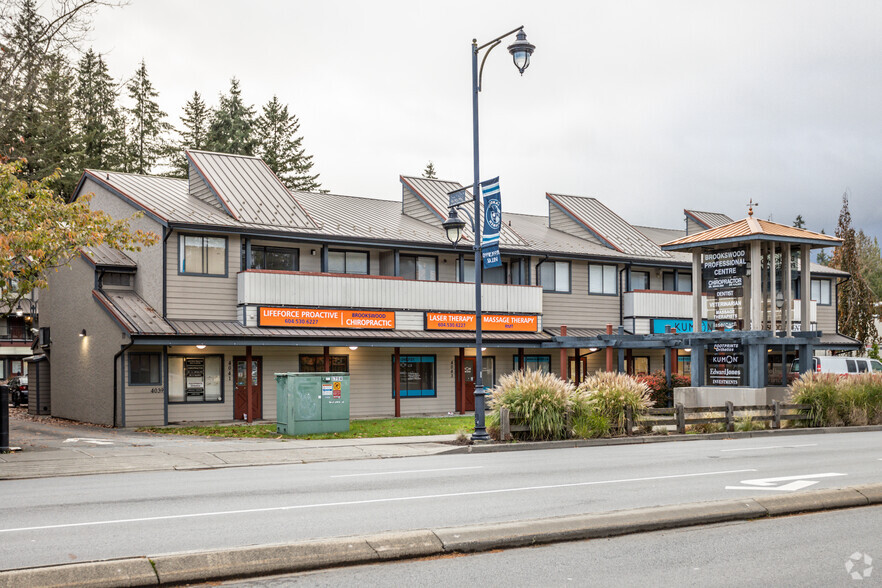
M475 286L459 282L247 270L239 273L239 305L319 306L474 312ZM482 310L541 314L542 288L484 284Z

